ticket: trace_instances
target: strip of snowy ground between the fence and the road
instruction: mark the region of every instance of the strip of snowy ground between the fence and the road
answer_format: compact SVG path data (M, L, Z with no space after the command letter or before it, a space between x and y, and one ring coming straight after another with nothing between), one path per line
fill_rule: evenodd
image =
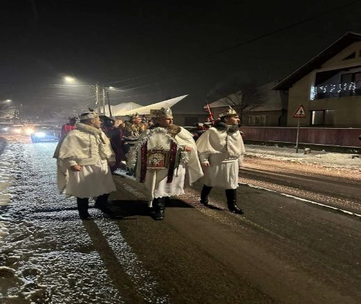
M299 149L299 153L296 153L296 149L291 147L246 145L246 157L261 157L280 161L320 164L325 167L361 170L361 155L358 154L314 150L311 150L310 154L304 152L305 150Z

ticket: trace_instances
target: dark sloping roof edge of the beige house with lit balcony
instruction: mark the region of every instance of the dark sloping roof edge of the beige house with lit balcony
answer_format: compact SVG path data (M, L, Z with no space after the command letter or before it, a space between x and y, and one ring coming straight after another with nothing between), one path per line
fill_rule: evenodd
M309 62L303 64L299 69L294 71L291 75L287 76L284 80L278 82L274 90L287 90L289 87L292 87L292 84L299 81L308 73L312 72L314 69L319 69L321 64L330 60L337 53L342 51L347 46L353 44L354 42L361 41L361 35L358 33L346 33L336 42L328 46L324 51L321 51L317 56L313 57Z

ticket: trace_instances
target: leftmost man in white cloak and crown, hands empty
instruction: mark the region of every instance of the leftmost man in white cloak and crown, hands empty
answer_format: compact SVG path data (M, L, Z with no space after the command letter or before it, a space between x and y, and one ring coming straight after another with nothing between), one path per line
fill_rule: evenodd
M115 191L110 167L115 163L106 134L101 131L98 114L90 111L79 116L80 123L56 148L60 193L76 197L79 217L90 220L89 198L97 197L95 207L107 212L109 194Z

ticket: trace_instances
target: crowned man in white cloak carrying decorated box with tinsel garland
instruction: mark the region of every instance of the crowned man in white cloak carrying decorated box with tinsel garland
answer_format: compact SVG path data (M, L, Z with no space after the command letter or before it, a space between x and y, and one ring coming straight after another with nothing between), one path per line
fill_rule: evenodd
M170 108L154 112L156 125L146 129L127 157L127 166L136 166L143 193L152 201L155 220L165 217L168 197L182 195L184 184L203 176L192 134L173 124Z

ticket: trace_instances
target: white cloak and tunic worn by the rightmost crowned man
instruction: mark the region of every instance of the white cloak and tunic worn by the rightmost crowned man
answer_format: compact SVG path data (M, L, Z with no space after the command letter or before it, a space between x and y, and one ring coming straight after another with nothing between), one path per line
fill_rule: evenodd
M209 167L203 167L203 184L236 189L245 152L238 126L217 123L199 137L196 147L201 163L210 163Z

